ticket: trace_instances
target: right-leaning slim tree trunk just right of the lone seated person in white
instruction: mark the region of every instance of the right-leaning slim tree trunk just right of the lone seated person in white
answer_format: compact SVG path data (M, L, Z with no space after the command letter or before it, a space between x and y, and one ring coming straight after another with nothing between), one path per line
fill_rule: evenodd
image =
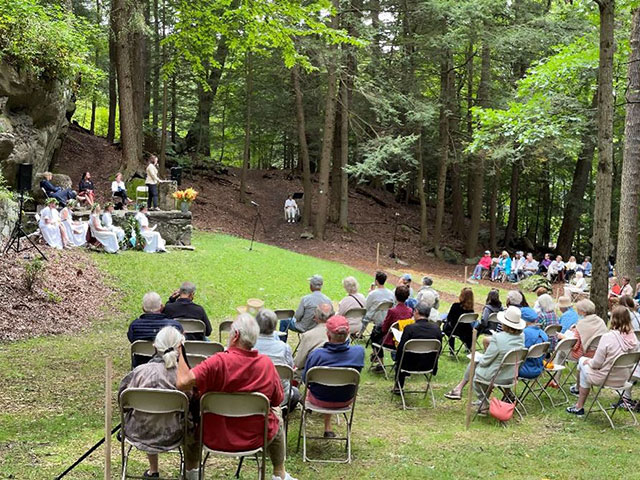
M339 0L332 0L333 7L339 10ZM334 15L331 19L331 27L338 28L338 17ZM318 212L314 235L318 240L324 240L325 228L327 225L327 213L329 210L329 174L331 167L331 152L333 150L333 131L336 120L336 65L335 47L331 47L329 59L327 60L327 98L324 110L324 131L322 132L322 153L320 156L320 173L318 181Z

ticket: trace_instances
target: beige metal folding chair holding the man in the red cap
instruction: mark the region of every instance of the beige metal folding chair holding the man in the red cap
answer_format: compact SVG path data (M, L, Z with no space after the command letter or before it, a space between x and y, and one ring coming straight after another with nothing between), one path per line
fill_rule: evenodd
M347 387L353 386L353 401L350 405L342 408L323 408L318 407L307 401L307 393L309 385L315 383L328 387ZM324 462L324 463L351 463L351 426L353 424L353 412L356 408L356 398L358 397L358 386L360 385L360 373L354 368L341 367L313 367L307 372L305 382L305 392L302 399L302 418L300 419L300 430L298 431L298 451L300 451L300 439L302 438L302 461L303 462ZM307 436L307 412L316 412L324 415L342 415L345 419L347 436L346 437L312 437ZM348 416L347 416L348 415ZM312 459L307 456L307 439L309 440L327 440L327 441L343 441L346 442L345 452L347 458L340 460L321 460Z

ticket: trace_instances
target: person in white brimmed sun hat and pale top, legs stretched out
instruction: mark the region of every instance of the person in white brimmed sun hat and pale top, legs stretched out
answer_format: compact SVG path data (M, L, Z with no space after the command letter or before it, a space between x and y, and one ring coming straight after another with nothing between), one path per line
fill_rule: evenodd
M489 383L493 376L496 374L502 363L504 356L514 348L524 348L524 330L526 323L521 318L520 309L516 307L508 307L506 311L498 313L498 321L502 325L502 331L488 337L488 345L484 354L477 354L476 356L476 371L474 380L480 379ZM460 400L462 398L462 391L464 387L469 383L469 371L471 362L467 366L464 372L462 381L456 385L451 391L445 394L445 398L449 400ZM505 369L500 372L496 378L496 383L509 383L513 381L513 369ZM481 393L485 391L485 385L474 381L473 390L475 391L478 402L475 402L476 406L481 407L480 411L486 414L489 410L489 404L483 402L480 405ZM491 392L485 392L485 395L489 397Z

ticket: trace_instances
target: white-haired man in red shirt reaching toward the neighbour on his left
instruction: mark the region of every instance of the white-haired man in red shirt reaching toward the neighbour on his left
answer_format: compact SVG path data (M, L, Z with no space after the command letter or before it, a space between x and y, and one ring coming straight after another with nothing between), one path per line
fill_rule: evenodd
M239 315L231 324L229 348L225 352L207 358L191 370L180 356L176 385L185 392L197 387L201 395L207 392L258 392L265 395L271 403L266 448L273 464L273 480L295 480L284 467L286 443L279 407L284 399L282 384L269 357L253 350L259 334L260 328L251 315ZM203 421L203 441L213 450L240 452L253 450L262 444L262 417L222 419L208 414Z

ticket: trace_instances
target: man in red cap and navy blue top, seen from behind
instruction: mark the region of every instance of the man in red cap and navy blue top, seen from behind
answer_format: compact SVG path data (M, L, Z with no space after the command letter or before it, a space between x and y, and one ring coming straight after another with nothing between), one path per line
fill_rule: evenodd
M327 338L323 347L309 354L302 373L302 380L313 367L344 367L362 370L364 367L364 348L361 345L349 345L349 321L335 315L327 321ZM342 408L351 405L355 394L353 386L327 387L310 384L306 400L320 408ZM334 438L331 430L331 415L324 416L324 436Z

